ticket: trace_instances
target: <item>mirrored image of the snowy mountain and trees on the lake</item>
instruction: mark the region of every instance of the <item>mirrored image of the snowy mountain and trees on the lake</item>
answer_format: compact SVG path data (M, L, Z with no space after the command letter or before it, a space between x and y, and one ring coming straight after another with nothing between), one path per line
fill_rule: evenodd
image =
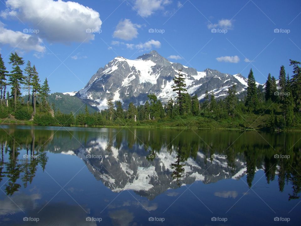
M298 133L57 129L7 126L1 130L0 185L7 195L31 184L38 167L47 168L50 151L77 155L111 191L132 190L149 200L195 181L209 184L245 175L251 188L258 170L265 172L267 184L277 175L280 192L284 186L291 186L288 200L300 197ZM277 154L279 158L275 158ZM214 195L235 198L237 193Z

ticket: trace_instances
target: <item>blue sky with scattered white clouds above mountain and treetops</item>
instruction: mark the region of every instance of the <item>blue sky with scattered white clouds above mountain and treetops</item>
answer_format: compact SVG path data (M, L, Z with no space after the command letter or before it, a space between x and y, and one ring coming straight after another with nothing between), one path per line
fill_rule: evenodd
M29 60L52 93L151 50L197 71L247 77L252 68L262 84L301 61L300 24L299 0L2 0L0 52L8 70L11 52Z

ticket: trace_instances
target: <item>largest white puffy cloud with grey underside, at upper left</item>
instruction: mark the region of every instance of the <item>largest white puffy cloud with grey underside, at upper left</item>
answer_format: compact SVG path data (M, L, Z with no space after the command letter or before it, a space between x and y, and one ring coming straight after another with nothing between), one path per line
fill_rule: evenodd
M94 40L94 34L86 32L100 30L102 21L99 13L75 2L61 0L7 0L8 9L1 12L7 18L17 16L32 29L38 29L39 36L50 42L83 42Z

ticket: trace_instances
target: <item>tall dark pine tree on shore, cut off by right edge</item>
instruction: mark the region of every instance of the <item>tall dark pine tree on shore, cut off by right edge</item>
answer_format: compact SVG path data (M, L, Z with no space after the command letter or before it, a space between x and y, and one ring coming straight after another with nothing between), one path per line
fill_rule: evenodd
M300 62L298 61L290 61L290 66L293 65L293 76L291 79L291 89L293 93L293 97L295 100L296 108L301 111L301 68L300 68Z

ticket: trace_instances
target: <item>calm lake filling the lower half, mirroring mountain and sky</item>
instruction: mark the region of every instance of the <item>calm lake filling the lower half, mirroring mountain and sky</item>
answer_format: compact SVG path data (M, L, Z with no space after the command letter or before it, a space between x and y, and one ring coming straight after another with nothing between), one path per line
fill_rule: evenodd
M301 133L0 127L1 225L300 225Z

